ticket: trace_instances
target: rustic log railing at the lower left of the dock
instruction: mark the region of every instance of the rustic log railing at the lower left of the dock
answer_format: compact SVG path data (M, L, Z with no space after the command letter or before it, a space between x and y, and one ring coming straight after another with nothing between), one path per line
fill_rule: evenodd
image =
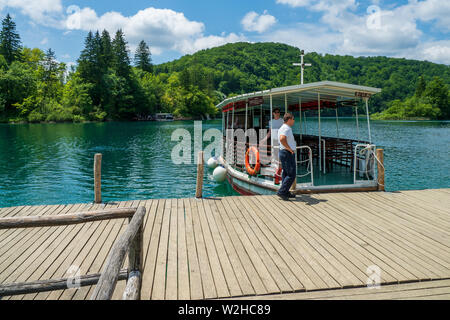
M117 281L127 280L124 300L139 300L143 266L144 207L91 211L61 216L11 217L0 219L0 230L38 227L57 227L94 221L130 219L125 233L111 249L101 274L84 275L77 279L77 286L97 284L91 300L110 300ZM128 252L128 270L121 270ZM0 285L0 297L19 294L49 292L69 288L71 279L43 280L28 283Z

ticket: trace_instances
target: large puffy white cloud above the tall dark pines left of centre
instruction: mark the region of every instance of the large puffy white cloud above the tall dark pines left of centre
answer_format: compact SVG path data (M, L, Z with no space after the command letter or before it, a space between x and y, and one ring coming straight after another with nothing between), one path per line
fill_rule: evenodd
M191 21L183 13L170 9L147 8L126 17L119 12L107 12L98 16L93 9L83 8L68 15L65 25L68 29L85 31L106 29L111 33L122 29L132 49L144 39L154 54L161 54L165 50L193 53L245 40L245 37L234 33L205 36L205 25L202 22Z

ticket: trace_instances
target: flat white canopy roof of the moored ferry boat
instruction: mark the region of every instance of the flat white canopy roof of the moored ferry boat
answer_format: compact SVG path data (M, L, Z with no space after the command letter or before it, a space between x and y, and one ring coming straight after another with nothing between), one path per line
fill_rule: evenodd
M339 108L354 105L361 98L370 98L380 93L381 89L352 85L342 82L321 81L303 85L274 88L266 91L253 92L228 98L217 105L223 112L249 107L270 105L273 107L287 106L289 110L318 109L320 95L321 108Z

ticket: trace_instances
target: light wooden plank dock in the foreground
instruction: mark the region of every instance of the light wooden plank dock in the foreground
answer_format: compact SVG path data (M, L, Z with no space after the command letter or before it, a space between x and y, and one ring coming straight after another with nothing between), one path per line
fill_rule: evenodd
M140 206L145 300L450 299L450 189L21 206L0 218ZM73 266L98 274L127 225L0 230L0 285L67 278ZM380 289L367 288L368 268ZM94 288L0 299L83 300Z

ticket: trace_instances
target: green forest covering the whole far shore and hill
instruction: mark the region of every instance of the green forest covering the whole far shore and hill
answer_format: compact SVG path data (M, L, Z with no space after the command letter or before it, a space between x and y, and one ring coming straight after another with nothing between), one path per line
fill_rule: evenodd
M226 97L298 84L297 48L235 43L153 65L141 41L130 53L121 30L89 32L76 67L52 49L28 48L8 14L0 32L0 122L143 120L157 112L206 118ZM307 82L382 88L371 99L377 119L450 119L450 67L386 57L309 53Z

